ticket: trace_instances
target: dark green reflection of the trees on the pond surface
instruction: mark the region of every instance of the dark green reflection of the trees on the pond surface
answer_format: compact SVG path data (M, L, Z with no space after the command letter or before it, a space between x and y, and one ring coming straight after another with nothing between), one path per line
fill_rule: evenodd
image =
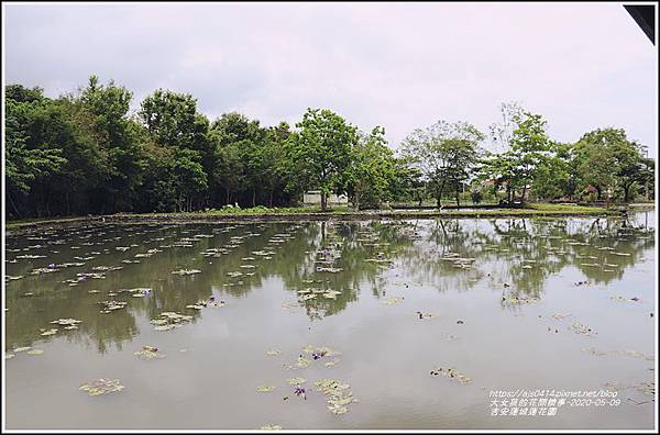
M439 292L486 286L542 298L548 278L568 267L596 285L622 279L652 249L653 232L648 212L626 220L86 224L42 230L7 237L7 350L63 335L99 353L121 349L145 324L153 327L146 322L162 312L193 315L195 323L201 314L186 305L211 295L249 298L268 291L270 282L280 282L290 294L282 301L285 306L297 306L316 321L345 310L361 292L383 298L393 288L411 285ZM111 266L121 269L102 270ZM172 274L178 269L201 274ZM100 275L84 279L78 274ZM120 291L134 288L151 291L145 298ZM99 302L108 300L125 301L127 306L100 313ZM51 321L66 317L80 320L79 328L41 336Z

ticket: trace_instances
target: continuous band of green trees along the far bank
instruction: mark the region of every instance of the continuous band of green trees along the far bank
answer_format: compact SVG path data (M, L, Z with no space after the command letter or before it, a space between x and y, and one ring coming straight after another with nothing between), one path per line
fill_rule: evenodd
M156 90L135 114L133 94L89 78L51 99L40 88L6 87L6 203L9 219L178 212L299 204L302 192L348 194L354 208L388 201L440 205L470 196L506 203L527 199L631 200L653 185L653 160L623 130L560 144L542 116L503 104L490 136L464 122L413 132L402 153L385 131L361 132L340 115L308 109L295 129L263 126L240 113L210 121L189 94ZM646 191L645 191L646 189Z

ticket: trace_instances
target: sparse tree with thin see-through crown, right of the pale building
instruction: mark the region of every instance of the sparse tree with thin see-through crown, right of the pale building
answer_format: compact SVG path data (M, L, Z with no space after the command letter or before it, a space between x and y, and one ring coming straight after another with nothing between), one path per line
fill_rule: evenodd
M419 168L435 192L438 208L442 205L446 187L453 187L457 204L462 183L480 156L479 143L484 135L466 122L438 121L427 129L417 129L403 143L404 157Z

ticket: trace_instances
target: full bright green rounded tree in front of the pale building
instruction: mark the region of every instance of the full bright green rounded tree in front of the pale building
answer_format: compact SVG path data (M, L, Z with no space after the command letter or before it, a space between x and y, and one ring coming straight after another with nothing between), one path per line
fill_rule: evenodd
M288 158L304 188L321 191L321 210L328 210L328 194L345 191L351 149L358 130L330 110L308 109L296 124L300 132L289 142Z

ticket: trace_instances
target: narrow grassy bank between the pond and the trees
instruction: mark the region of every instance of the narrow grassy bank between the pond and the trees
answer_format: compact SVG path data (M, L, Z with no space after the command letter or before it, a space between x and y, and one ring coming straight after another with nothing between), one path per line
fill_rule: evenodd
M630 204L629 210L654 209L654 204ZM465 207L465 209L471 209ZM604 209L584 205L548 205L530 204L521 209L479 209L479 210L384 210L384 211L212 211L182 213L118 213L96 216L53 217L43 220L26 220L22 222L6 222L6 234L36 230L44 226L63 225L68 223L106 222L106 223L255 223L255 222L295 222L295 221L365 221L365 220L402 220L402 219L493 219L493 217L570 217L593 216L606 217L623 214L622 209Z

